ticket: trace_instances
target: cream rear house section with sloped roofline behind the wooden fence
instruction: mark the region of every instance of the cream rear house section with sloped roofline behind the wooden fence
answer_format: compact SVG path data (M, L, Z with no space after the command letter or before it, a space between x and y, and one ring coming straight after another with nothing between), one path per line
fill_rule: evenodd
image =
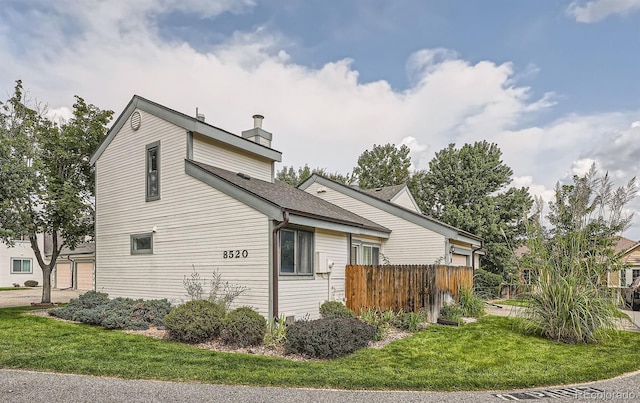
M482 240L420 212L406 185L372 190L313 174L298 188L391 229L388 239L353 236L352 264L433 264L479 267Z

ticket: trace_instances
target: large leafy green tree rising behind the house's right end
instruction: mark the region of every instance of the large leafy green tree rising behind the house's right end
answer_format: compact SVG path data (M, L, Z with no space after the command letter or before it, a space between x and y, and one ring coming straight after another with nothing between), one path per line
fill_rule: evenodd
M426 214L483 238L482 266L509 279L533 200L527 188L507 188L513 171L501 157L500 148L486 141L460 149L450 144L436 153L429 171L411 178L409 188Z

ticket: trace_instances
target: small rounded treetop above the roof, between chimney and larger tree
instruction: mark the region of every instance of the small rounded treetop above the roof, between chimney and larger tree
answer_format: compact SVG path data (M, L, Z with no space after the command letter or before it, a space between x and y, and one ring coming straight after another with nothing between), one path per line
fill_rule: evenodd
M409 147L395 144L373 145L358 157L358 166L353 168L353 177L362 189L402 185L409 181L411 157Z

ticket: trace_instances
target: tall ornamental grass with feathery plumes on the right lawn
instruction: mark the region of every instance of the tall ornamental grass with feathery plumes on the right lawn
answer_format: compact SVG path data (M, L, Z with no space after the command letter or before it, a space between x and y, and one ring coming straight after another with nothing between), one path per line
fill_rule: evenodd
M534 273L524 311L523 328L566 343L598 341L615 328L616 306L608 294L606 275L624 267L615 242L628 228L625 213L636 196L635 178L614 189L608 174L593 165L573 185L556 186L547 219L538 214L527 223L529 255L525 264Z

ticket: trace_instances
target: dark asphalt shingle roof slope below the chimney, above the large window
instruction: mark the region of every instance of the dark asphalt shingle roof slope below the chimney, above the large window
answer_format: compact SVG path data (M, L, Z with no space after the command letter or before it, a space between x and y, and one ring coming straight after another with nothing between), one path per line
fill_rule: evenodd
M357 214L284 182L267 182L256 178L250 178L247 175L241 176L236 172L227 171L202 162L189 162L204 169L208 173L225 180L226 182L229 182L255 196L289 211L290 213L305 217L319 218L330 222L373 229L386 233L391 232L390 229L382 225L360 217Z

